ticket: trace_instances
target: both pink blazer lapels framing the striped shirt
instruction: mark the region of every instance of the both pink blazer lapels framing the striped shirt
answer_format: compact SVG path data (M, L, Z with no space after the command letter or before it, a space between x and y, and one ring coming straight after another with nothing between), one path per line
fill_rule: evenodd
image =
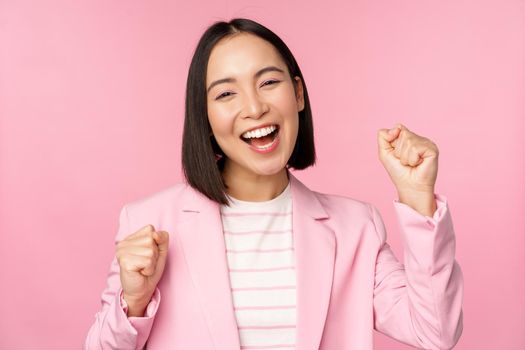
M297 282L298 349L318 349L332 288L335 234L314 192L288 172ZM175 229L217 349L240 349L220 206L189 185ZM176 312L176 310L174 310Z

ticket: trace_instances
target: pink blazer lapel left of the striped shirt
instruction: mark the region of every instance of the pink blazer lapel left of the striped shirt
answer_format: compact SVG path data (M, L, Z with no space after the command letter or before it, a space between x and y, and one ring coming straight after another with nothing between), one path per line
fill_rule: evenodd
M240 349L219 205L189 185L180 200L177 229L216 348Z

